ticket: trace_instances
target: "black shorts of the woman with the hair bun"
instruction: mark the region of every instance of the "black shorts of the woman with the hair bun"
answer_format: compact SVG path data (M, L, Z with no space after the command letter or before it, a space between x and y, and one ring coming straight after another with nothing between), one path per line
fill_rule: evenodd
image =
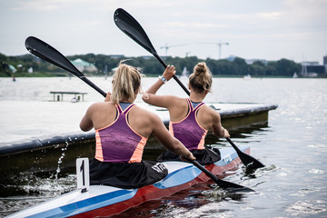
M204 149L192 150L190 152L196 158L196 161L203 165L215 163L221 159L219 149L217 148L211 149L205 147ZM164 162L164 161L182 161L182 160L180 158L180 155L173 154L169 151L164 151L162 154L159 155L157 161Z

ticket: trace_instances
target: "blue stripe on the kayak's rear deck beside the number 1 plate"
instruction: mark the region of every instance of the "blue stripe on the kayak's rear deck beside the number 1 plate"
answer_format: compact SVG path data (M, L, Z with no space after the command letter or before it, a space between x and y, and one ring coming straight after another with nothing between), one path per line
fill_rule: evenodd
M111 205L134 197L137 189L119 190L113 193L104 193L93 198L85 199L80 202L70 203L61 207L54 208L49 211L37 213L28 217L65 217L79 213L85 213L97 208Z

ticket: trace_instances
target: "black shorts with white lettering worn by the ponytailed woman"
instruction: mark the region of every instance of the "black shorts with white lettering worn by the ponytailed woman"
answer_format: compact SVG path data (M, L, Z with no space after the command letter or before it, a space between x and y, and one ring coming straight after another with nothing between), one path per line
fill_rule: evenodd
M93 159L90 163L90 184L110 185L118 188L140 188L156 183L168 174L163 163L108 163Z

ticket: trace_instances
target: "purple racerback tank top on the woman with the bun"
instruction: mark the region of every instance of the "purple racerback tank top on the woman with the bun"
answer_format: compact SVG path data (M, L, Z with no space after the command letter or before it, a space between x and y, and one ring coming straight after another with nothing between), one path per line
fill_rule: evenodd
M204 104L198 104L195 108L191 100L186 98L189 113L180 122L170 122L169 131L175 138L177 138L188 150L204 149L204 138L207 130L198 123L196 113Z

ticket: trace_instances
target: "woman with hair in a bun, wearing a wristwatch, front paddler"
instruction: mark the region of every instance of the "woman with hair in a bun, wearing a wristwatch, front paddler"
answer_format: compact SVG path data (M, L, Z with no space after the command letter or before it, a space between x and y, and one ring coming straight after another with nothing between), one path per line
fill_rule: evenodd
M168 65L162 76L146 91L143 100L168 109L170 114L169 132L180 140L202 164L214 163L220 160L219 150L212 150L204 146L204 138L208 130L218 137L229 137L230 134L221 124L220 114L203 103L203 99L211 91L213 84L212 74L208 66L198 63L189 77L189 98L180 98L173 95L155 94L158 89L169 81L175 74L175 67ZM177 155L169 151L163 152L158 161L178 161Z

